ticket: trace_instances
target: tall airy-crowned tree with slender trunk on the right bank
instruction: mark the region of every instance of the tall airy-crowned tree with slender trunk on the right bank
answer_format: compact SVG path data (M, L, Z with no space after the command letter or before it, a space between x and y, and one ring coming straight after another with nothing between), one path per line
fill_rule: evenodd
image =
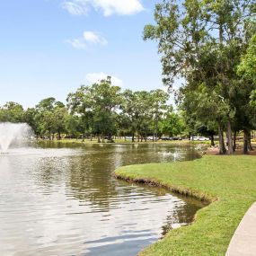
M224 99L228 107L222 109L227 112L219 119L218 130L223 133L225 127L228 154L233 153L235 67L252 35L254 5L253 0L184 0L182 4L163 0L155 6L156 25L146 25L144 31L145 40L159 42L165 84L172 86L173 79L181 75L190 89L197 91L205 84L210 92L206 95Z

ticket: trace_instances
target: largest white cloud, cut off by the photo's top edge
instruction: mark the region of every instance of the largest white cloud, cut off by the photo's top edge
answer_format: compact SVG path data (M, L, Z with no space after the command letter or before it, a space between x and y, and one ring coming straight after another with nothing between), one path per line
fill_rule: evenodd
M144 10L141 0L69 0L63 3L63 7L73 15L86 14L92 7L104 16L131 15Z

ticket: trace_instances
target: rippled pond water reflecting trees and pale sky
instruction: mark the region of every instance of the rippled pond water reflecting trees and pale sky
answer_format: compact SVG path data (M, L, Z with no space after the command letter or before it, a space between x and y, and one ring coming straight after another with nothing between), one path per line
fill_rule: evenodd
M203 207L111 175L198 158L190 146L44 144L0 155L0 255L134 256Z

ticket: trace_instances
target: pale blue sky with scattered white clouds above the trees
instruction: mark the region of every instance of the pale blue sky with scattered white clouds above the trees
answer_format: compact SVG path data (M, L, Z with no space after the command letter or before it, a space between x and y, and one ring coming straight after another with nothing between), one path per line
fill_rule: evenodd
M155 0L8 0L0 8L0 105L24 108L106 75L123 89L163 88Z

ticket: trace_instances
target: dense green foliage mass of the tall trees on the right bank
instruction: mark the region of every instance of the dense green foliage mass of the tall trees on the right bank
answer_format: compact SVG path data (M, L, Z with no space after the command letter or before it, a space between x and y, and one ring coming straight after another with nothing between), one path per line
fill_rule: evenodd
M209 131L218 128L219 137L223 137L225 130L228 153L233 152L231 128L251 125L253 88L247 86L237 93L244 81L236 69L255 32L254 17L254 0L163 0L155 5L155 24L144 30L145 40L158 41L164 84L172 87L175 78L186 79L178 102L190 132L203 126ZM254 50L252 39L241 67L251 79L255 75ZM246 73L248 62L252 68ZM241 119L241 112L245 119ZM220 143L224 149L224 139Z

